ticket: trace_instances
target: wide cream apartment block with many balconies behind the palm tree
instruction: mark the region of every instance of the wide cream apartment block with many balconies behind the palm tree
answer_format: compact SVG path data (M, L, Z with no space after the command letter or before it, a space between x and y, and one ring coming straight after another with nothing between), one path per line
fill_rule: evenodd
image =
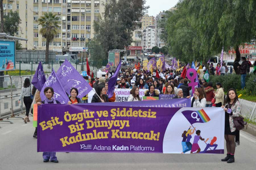
M24 49L46 50L46 39L40 35L42 28L38 19L44 12L57 14L60 24L58 33L49 49L56 52L68 52L70 47L85 47L95 35L94 20L104 12L103 3L107 0L3 0L4 15L18 11L21 19L18 37L28 39L20 41Z

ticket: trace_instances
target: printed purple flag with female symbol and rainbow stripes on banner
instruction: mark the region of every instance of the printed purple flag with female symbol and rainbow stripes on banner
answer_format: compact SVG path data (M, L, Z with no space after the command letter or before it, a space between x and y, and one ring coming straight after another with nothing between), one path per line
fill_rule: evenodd
M204 109L199 111L183 111L181 113L185 116L185 118L187 118L191 125L195 123L206 123L210 121L210 118Z

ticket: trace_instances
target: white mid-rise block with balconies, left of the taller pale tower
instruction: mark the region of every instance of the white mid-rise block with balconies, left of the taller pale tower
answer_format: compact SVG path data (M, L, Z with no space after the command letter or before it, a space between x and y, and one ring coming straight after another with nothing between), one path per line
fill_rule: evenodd
M146 29L143 30L142 36L143 51L150 51L155 44L155 25L148 25Z

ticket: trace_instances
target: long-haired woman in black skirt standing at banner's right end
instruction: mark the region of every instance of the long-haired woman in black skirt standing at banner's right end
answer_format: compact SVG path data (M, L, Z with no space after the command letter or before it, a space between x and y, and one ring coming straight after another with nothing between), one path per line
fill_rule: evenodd
M241 116L241 105L240 102L238 101L237 92L233 88L230 88L228 90L225 105L222 105L222 108L224 108L225 111L224 137L226 140L226 150L228 154L226 155L226 158L221 159L221 161L233 163L234 152L236 150L236 143L237 145L240 145L240 131L237 130L236 127L234 126L233 117Z

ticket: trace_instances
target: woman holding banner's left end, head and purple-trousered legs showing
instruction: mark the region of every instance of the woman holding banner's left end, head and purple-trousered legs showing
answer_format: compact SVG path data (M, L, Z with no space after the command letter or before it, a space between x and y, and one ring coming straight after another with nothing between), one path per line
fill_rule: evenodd
M37 104L60 104L59 101L55 100L53 98L53 88L52 87L46 87L44 88L44 95L46 95L46 100L38 102ZM43 152L43 162L49 162L49 159L51 158L51 162L58 163L56 152Z

